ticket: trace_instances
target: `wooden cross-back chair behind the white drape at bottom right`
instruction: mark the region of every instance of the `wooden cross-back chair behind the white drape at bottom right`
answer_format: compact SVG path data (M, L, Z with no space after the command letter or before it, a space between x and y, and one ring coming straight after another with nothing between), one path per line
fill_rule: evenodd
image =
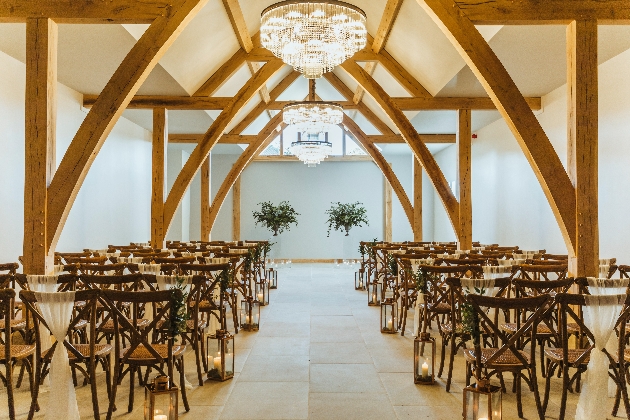
M560 335L562 346L559 348L547 348L545 350L545 357L549 365L542 408L543 412L545 412L549 402L551 378L555 370L560 369L562 372L562 395L558 418L563 420L566 412L567 392L572 391L574 383L576 384L576 391L579 391L579 380L581 375L586 372L591 350L595 347L595 339L593 333L584 324L585 295L558 293L555 299L560 308ZM630 418L630 403L627 391L627 366L630 362L630 350L626 349L626 329L618 328L620 325L627 324L630 319L629 305L630 296L626 295L624 309L615 324L615 329L618 332L618 347L616 349L605 348L604 353L610 362L608 375L617 385L612 415L617 416L620 401L623 399L626 416ZM576 340L577 348L569 347L569 336L572 334L569 328L571 324L577 325L580 331L578 340ZM575 372L570 374L569 369L575 369Z

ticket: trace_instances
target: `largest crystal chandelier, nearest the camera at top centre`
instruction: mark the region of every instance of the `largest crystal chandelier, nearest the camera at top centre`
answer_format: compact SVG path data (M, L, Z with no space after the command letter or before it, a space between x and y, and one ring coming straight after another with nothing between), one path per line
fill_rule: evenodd
M365 48L365 13L341 1L276 3L262 12L262 46L317 79Z

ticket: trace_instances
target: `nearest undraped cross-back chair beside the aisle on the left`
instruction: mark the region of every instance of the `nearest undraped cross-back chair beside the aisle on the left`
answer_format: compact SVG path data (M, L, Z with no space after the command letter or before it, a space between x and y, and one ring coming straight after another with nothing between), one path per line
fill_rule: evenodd
M133 411L134 377L138 377L140 369L167 375L175 382L174 369L179 372L179 391L186 411L190 410L186 397L186 379L184 377L184 352L186 346L175 344L170 333L164 333L164 325L169 325L173 299L181 299L181 290L147 291L142 293L122 292L118 290L102 290L101 300L112 314L114 324L114 380L110 397L107 419L111 419L115 408L118 384L129 374L129 402L127 411ZM130 302L132 306L151 304L156 308L154 318L146 325L140 326L136 316L127 318L120 310L122 302ZM132 313L134 313L132 311ZM165 369L166 368L166 369Z

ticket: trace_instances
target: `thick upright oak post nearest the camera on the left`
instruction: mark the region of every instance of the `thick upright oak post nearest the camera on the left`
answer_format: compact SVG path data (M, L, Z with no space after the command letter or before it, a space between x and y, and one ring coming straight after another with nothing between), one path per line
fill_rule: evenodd
M24 243L25 274L52 270L48 248L47 189L55 171L57 24L47 18L26 21L26 106Z

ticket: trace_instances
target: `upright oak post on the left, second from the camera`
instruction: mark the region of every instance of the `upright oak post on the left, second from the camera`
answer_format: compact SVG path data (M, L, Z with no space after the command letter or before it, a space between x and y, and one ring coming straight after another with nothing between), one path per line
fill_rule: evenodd
M153 159L151 171L151 246L164 248L164 200L166 195L166 148L168 145L168 115L165 108L153 108Z

